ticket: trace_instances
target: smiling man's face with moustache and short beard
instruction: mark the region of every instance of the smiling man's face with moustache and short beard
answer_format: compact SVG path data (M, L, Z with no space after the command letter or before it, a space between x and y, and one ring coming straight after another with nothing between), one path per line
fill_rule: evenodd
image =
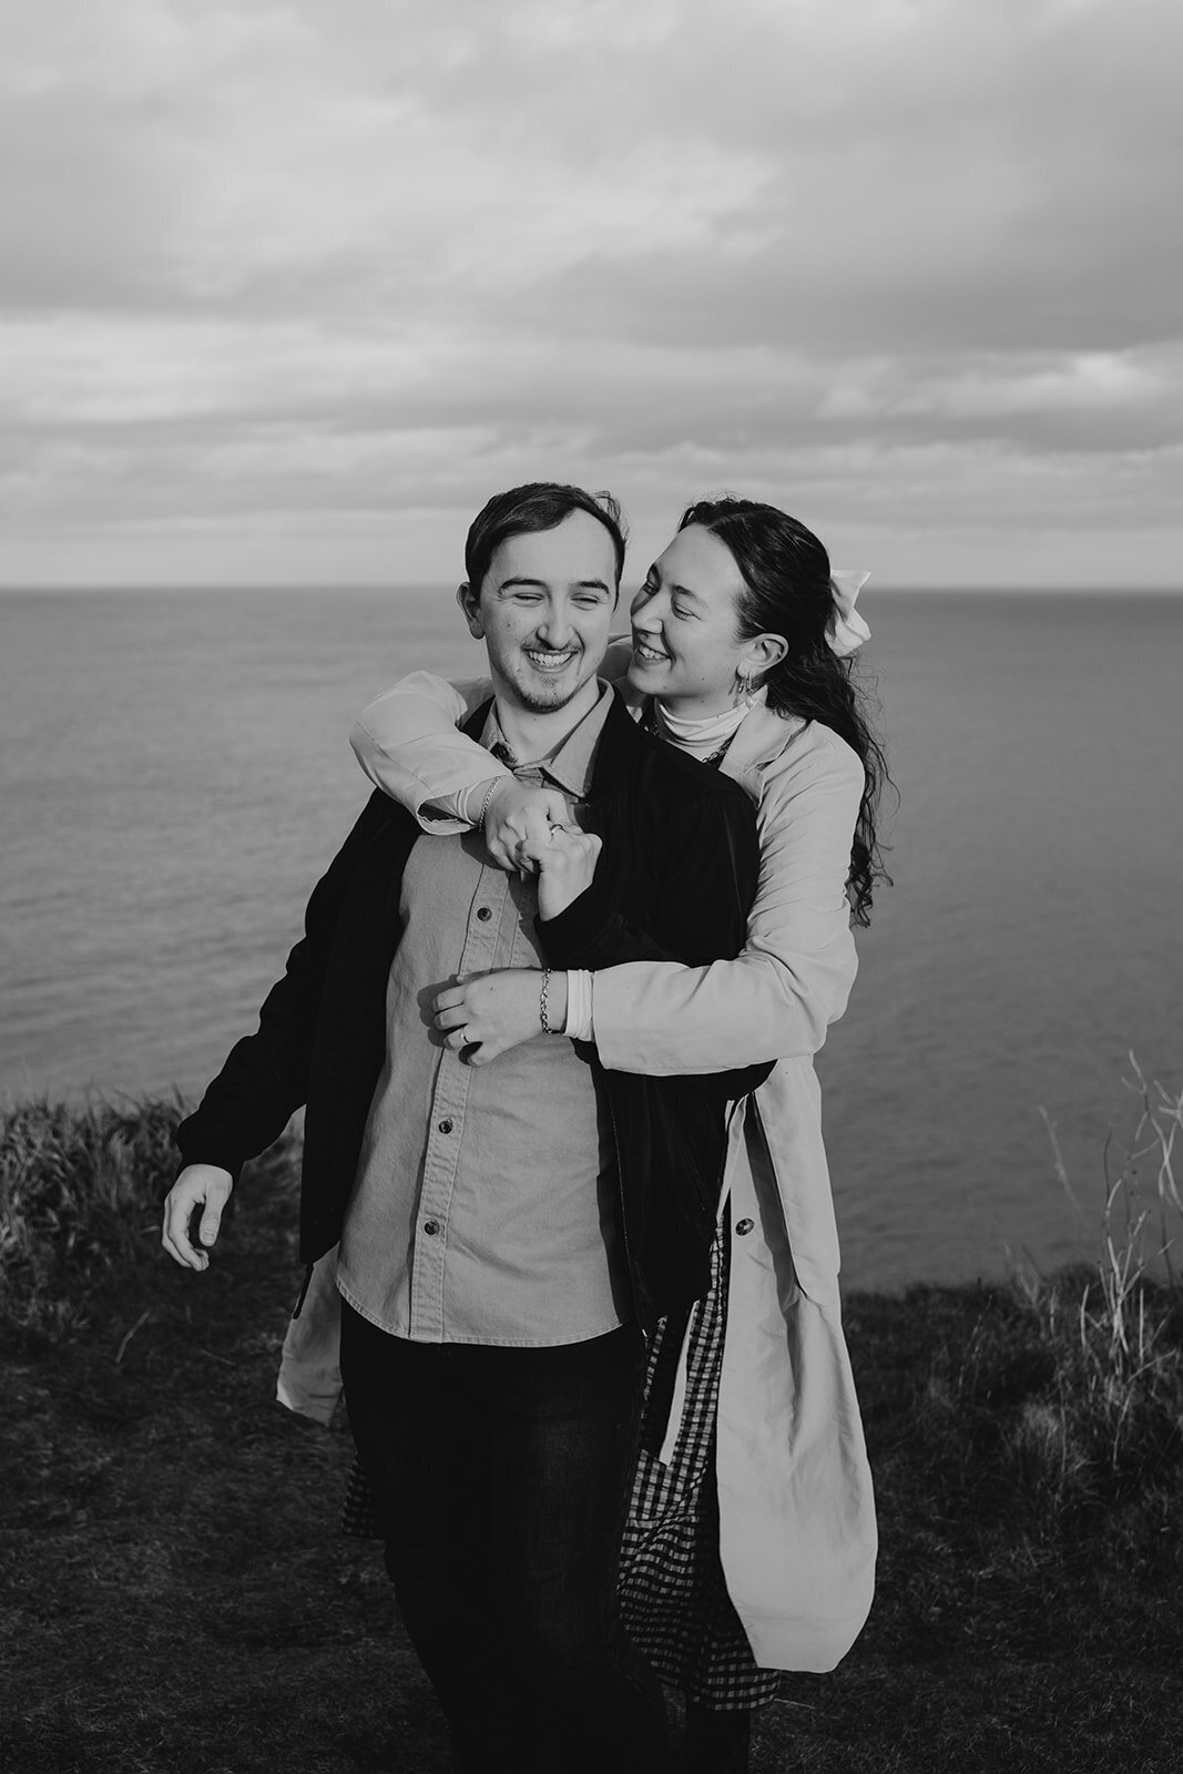
M468 632L484 639L498 699L536 715L591 683L615 610L612 536L587 511L553 530L511 536L479 587L461 585Z

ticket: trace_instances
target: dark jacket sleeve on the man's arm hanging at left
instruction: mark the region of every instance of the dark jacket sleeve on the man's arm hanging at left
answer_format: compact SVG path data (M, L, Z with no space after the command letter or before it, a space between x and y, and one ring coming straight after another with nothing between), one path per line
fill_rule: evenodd
M259 1027L238 1041L200 1103L177 1126L184 1164L216 1164L234 1181L247 1162L280 1137L305 1102L312 1036L337 912L356 857L387 818L371 795L353 830L312 889L303 937L287 956L284 977L268 992Z

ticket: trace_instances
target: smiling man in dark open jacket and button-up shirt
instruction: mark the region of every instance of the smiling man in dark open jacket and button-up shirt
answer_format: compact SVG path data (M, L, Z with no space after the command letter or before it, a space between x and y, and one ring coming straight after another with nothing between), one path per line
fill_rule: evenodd
M665 1762L614 1602L642 1334L706 1288L724 1103L754 1082L608 1075L548 1040L550 965L734 954L756 887L743 791L596 678L623 557L619 509L578 488L477 516L458 601L495 695L472 731L564 797L560 866L507 875L479 832L422 839L374 793L181 1125L165 1212L165 1247L206 1268L241 1164L307 1102L302 1260L341 1240L349 1423L465 1770ZM504 967L541 969L539 1034L472 1066L429 1009Z

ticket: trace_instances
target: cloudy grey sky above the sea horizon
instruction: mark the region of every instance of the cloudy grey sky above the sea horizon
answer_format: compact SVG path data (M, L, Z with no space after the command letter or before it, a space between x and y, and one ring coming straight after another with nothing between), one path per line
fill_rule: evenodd
M1183 584L1176 0L0 0L0 584Z

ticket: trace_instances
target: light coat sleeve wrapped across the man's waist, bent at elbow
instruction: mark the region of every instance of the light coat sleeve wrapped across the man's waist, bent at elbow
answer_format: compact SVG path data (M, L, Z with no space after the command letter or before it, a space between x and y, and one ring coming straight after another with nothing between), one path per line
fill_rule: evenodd
M759 795L761 837L743 953L706 967L631 962L598 972L592 1022L610 1071L679 1075L805 1057L846 1009L857 956L844 887L862 765L811 724L741 781Z

